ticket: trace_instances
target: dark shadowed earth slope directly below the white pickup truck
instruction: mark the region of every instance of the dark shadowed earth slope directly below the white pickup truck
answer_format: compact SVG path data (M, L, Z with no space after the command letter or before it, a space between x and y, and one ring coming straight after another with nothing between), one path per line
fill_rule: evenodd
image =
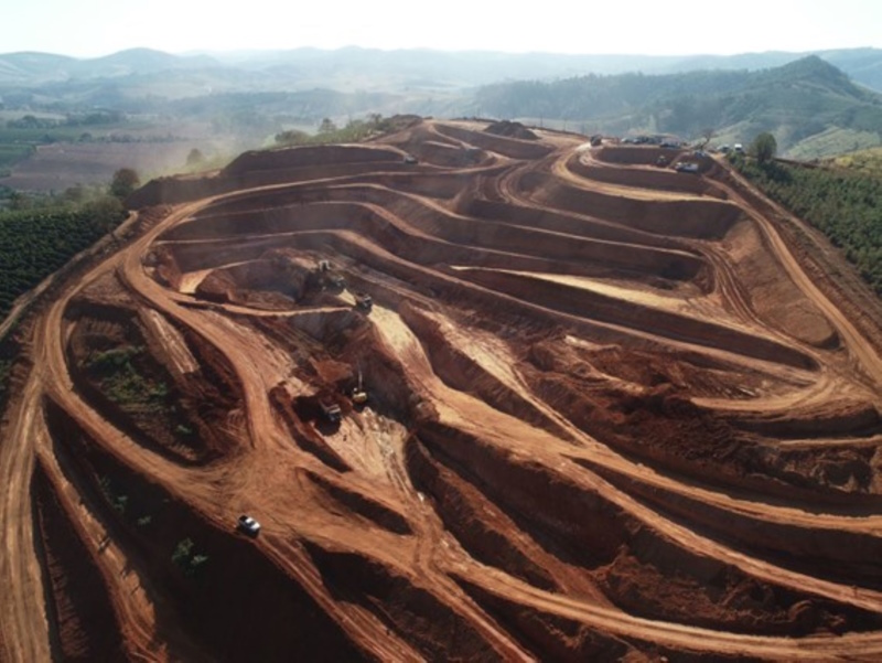
M163 587L179 625L208 651L225 660L363 660L297 581L234 536L232 521L229 530L218 528L105 451L60 409L50 407L49 415L55 443L73 460L69 471L89 486L115 543L130 554L140 574ZM187 541L191 547L183 545ZM261 609L267 602L273 619ZM169 634L159 631L157 637Z

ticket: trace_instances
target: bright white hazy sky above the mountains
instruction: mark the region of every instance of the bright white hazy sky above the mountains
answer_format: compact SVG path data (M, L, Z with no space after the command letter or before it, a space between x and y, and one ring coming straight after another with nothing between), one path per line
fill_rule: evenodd
M0 53L148 46L697 54L882 47L880 0L0 0Z

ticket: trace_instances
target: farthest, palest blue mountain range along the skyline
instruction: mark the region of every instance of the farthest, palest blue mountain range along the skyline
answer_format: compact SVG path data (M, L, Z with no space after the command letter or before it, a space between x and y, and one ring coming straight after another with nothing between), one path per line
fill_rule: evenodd
M343 92L396 87L470 87L502 81L553 79L587 74L676 74L698 69L756 71L819 55L849 77L882 92L882 50L848 49L811 53L743 53L739 55L568 55L492 51L381 51L346 47L333 51L292 49L172 55L130 49L105 57L78 60L45 53L0 54L0 88L41 85L49 81L121 77L161 71L213 69L212 76L240 78L257 74L261 89L305 89L323 86ZM277 87L272 87L272 86ZM295 87L291 87L294 85ZM349 87L343 89L342 85ZM270 87L267 87L270 86ZM355 86L355 87L353 87Z

